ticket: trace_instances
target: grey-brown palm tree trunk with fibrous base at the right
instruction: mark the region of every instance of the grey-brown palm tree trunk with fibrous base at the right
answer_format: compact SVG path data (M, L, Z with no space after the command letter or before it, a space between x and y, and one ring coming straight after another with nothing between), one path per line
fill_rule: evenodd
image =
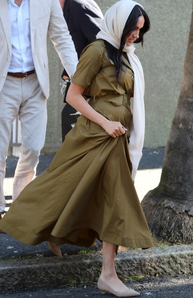
M145 195L142 207L157 239L180 243L193 241L193 13L181 92L166 145L160 183Z

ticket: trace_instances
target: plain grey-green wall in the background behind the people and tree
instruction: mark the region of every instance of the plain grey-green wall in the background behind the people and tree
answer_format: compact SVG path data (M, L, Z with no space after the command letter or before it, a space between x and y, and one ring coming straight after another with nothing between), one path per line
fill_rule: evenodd
M96 0L103 13L116 1ZM181 87L183 61L188 42L192 0L141 0L151 20L144 48L136 45L145 75L145 148L166 145ZM46 143L61 142L63 107L58 82L62 66L53 45L48 41L50 98ZM55 151L49 149L49 151ZM44 148L43 151L48 151Z

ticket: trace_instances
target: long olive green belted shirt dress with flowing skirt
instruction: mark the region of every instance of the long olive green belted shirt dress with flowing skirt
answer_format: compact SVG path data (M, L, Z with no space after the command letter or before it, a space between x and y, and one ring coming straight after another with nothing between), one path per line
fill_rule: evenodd
M29 183L0 221L0 229L35 245L49 240L93 246L96 238L127 247L153 243L131 178L128 141L134 73L125 71L117 83L115 65L105 45L88 45L72 82L85 88L89 104L126 134L113 138L83 115L67 134L48 169Z

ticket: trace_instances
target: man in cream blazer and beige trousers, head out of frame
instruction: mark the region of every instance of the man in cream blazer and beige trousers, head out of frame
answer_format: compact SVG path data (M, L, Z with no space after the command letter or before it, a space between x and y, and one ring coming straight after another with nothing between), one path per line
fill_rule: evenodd
M78 58L59 1L1 0L0 219L5 213L3 180L14 119L19 116L22 145L13 181L13 201L33 179L45 142L49 97L47 32L71 77Z

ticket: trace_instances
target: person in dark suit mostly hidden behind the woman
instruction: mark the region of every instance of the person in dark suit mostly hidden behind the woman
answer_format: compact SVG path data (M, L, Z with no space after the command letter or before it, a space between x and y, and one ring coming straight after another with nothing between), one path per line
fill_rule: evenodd
M94 0L59 1L79 59L83 49L96 39L96 35L100 31L99 25L103 19L102 11ZM69 80L65 69L62 78ZM64 103L66 103L65 99ZM66 134L76 124L79 115L69 103L66 103L61 113L62 142L64 142Z

